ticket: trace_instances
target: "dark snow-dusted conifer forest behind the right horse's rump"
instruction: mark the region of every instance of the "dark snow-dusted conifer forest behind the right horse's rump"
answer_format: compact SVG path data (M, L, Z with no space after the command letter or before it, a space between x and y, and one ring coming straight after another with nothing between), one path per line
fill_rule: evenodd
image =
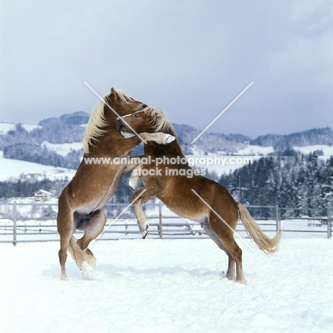
M297 208L284 215L314 216L333 207L333 157L319 154L285 154L259 160L221 176L219 183L247 205ZM317 211L316 211L317 210Z

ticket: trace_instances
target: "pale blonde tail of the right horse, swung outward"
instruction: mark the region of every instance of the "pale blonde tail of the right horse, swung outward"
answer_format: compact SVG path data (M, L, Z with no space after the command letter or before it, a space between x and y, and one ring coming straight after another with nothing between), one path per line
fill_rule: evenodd
M248 209L246 209L240 202L237 203L240 221L245 226L248 236L252 238L255 244L263 250L266 254L273 254L279 249L280 233L276 233L273 238L269 238L255 222L254 218L250 216Z

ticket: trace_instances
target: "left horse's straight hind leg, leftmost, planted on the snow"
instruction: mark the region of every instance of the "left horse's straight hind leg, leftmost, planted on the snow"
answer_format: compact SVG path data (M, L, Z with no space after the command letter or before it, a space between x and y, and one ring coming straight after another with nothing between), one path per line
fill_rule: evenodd
M61 268L61 280L68 280L65 270L67 260L67 250L70 239L75 231L73 213L70 211L68 203L64 198L64 194L60 195L59 208L57 215L57 229L60 236L59 263Z

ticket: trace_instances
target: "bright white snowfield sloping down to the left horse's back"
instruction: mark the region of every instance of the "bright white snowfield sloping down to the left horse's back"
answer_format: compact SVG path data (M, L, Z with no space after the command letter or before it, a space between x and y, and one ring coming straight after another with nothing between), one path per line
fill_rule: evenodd
M0 181L6 181L9 178L21 179L21 174L24 174L26 177L29 177L29 174L46 175L49 179L68 176L69 179L72 179L75 170L26 162L18 159L5 159L3 152L0 152Z

